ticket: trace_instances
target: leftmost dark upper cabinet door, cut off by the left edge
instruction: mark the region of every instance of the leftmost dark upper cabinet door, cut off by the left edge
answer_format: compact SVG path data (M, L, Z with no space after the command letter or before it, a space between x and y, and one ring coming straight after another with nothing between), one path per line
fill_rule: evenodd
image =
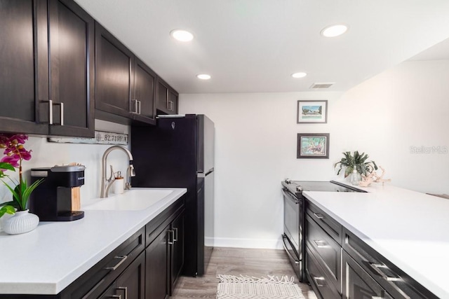
M47 134L36 118L48 100L46 1L0 0L0 28L0 130Z

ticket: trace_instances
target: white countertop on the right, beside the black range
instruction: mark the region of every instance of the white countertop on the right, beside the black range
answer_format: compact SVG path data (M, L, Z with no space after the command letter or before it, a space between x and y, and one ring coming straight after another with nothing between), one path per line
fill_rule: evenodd
M303 194L439 298L449 298L449 200L373 183Z

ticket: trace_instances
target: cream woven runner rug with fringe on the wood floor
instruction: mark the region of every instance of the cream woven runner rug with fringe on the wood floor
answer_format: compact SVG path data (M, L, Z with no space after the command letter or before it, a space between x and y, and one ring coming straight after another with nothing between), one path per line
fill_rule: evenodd
M248 277L218 274L217 299L304 298L294 277Z

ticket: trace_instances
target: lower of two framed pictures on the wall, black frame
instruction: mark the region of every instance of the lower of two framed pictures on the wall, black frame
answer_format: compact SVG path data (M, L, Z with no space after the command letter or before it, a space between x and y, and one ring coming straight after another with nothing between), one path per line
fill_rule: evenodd
M329 158L329 134L297 134L297 159Z

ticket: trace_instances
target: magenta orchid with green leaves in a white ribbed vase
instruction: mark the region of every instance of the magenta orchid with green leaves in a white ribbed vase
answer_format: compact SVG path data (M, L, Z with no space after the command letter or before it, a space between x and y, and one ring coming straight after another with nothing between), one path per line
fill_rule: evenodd
M17 216L4 221L2 225L4 231L9 234L29 232L39 224L39 217L28 213L27 202L29 195L43 179L28 186L27 180L22 176L22 161L31 159L31 151L27 151L23 146L27 139L24 134L0 134L0 148L4 148L4 157L0 160L0 180L13 195L13 200L0 204L0 217L4 214ZM18 181L5 174L8 170L15 171L15 168L19 169ZM9 185L5 179L9 179L14 185Z

